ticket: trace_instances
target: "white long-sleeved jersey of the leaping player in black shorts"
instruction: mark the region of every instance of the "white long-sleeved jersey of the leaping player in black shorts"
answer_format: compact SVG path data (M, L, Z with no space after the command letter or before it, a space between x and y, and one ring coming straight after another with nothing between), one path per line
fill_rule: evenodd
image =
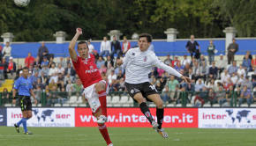
M182 76L176 69L160 61L157 56L155 56L154 52L150 50L142 52L139 47L135 47L129 49L124 57L123 67L125 69L125 82L128 84L149 82L148 74L154 66L164 69L174 76Z

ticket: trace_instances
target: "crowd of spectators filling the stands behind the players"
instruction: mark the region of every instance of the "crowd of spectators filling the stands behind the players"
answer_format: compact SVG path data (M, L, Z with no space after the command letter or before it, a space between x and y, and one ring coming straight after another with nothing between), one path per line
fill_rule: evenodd
M190 56L166 55L163 62L177 69L184 76L190 77L192 83L184 83L180 78L168 75L164 70L157 68L153 68L148 76L165 103L185 102L193 106L204 106L206 103L220 106L234 106L236 103L237 106L244 103L248 106L252 105L253 100L256 100L256 55L252 58L250 52L247 52L243 62L237 65L236 61L228 64L223 55L215 61L214 52L209 51L211 56L208 57L208 61L206 56L200 55L200 48L189 48L199 44L188 44ZM92 44L89 43L89 45L102 78L109 83L109 91L125 94L125 70L117 66L116 62L127 50L132 49L130 42L126 38L124 43L120 43L116 38L110 42L104 37L100 53L94 50ZM212 47L208 49L215 49L213 41L210 45ZM16 68L12 57L8 59L9 62L6 62L3 57L0 64L0 71L4 73L3 78L17 79L23 66L19 64ZM72 67L70 57L54 59L54 56L49 55L47 47L42 44L37 57L34 58L29 53L24 64L29 68L29 78L34 85L38 101L41 101L42 91L46 93L48 106L56 103L64 104L72 95L80 96L82 84ZM3 66L4 68L1 68ZM4 90L2 93L4 102L10 99L6 92L8 91ZM83 102L86 101L83 100Z

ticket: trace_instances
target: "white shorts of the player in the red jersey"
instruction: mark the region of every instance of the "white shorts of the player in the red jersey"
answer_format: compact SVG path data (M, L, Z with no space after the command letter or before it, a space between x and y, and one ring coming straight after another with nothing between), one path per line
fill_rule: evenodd
M106 84L106 81L102 80L99 83ZM97 84L97 83L95 83ZM99 94L95 91L95 84L92 84L84 89L83 95L88 100L89 106L92 109L92 112L95 113L98 108L101 106L100 100L99 100ZM106 84L108 85L108 84ZM108 89L108 88L107 88ZM106 94L106 92L104 93Z

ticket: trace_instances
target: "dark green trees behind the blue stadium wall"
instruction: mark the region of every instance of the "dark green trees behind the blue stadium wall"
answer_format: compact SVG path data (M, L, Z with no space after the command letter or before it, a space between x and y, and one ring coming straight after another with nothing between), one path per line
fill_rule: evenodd
M18 7L12 0L0 0L0 34L14 33L15 41L55 40L56 31L71 40L76 27L82 39L102 40L118 29L132 33L152 33L165 38L167 28L177 28L178 38L223 37L226 26L235 26L240 37L256 31L254 0L31 0Z

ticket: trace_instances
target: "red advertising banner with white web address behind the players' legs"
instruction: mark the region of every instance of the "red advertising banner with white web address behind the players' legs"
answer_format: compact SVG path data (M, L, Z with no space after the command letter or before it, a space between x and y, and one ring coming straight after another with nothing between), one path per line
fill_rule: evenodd
M151 108L154 120L155 108ZM89 108L75 109L76 127L94 127L96 118ZM147 113L146 116L150 116ZM139 108L108 108L109 127L152 127ZM165 108L165 116L162 120L163 127L166 128L197 128L198 109L189 108Z

